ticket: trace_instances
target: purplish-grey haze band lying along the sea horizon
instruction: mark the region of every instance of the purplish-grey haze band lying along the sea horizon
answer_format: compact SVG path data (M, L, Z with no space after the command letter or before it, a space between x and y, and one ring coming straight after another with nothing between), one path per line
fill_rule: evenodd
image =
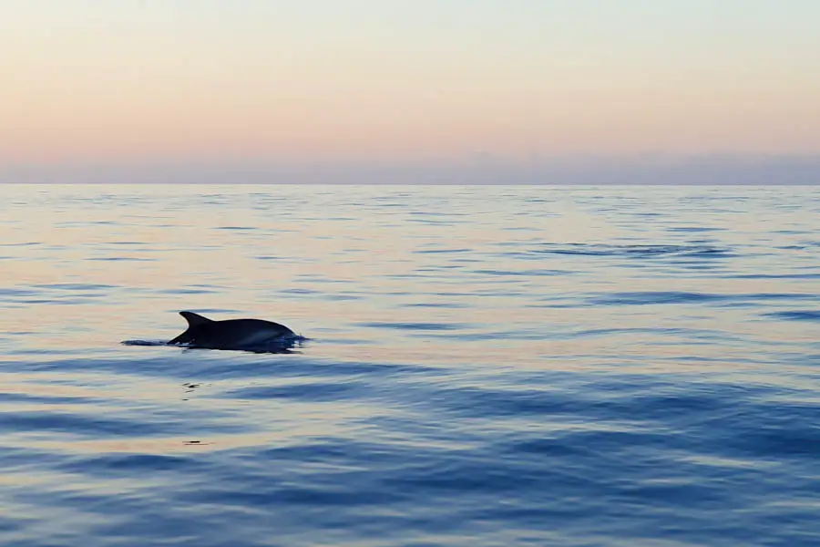
M622 158L472 162L135 162L15 165L0 183L94 184L820 184L820 157Z

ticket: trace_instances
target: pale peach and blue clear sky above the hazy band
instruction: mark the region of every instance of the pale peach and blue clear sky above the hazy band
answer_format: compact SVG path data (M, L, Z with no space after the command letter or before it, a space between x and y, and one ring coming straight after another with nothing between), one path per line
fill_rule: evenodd
M820 154L817 0L4 0L0 161Z

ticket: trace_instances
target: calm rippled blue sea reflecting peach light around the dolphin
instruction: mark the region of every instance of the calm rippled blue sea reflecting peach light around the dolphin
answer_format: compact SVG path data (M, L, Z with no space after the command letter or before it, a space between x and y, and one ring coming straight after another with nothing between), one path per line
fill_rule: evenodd
M2 545L820 545L820 188L2 186L0 350Z

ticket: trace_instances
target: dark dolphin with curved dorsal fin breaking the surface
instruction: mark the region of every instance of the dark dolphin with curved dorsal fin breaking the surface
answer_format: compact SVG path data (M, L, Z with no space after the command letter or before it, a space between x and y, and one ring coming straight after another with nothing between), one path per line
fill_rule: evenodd
M188 321L188 329L169 345L187 344L206 349L282 349L303 339L285 325L261 319L227 319L214 321L193 312L179 312Z

